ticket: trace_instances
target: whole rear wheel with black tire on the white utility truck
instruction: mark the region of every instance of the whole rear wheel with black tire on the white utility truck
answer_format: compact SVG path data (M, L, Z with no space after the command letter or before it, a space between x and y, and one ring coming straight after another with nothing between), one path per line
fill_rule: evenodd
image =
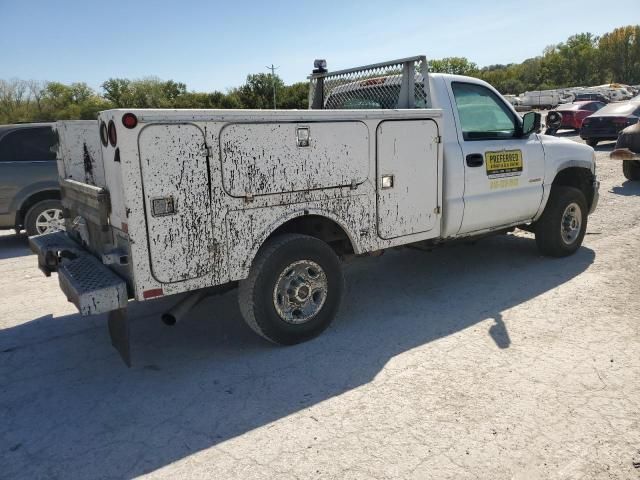
M283 234L260 249L249 277L240 281L238 301L254 332L279 345L294 345L326 330L343 291L340 261L329 245L307 235Z

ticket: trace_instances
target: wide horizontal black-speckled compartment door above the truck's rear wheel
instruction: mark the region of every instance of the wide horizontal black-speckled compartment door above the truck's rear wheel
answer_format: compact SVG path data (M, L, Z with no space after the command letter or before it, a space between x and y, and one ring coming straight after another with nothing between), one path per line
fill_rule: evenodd
M220 133L220 150L234 197L356 186L369 174L363 122L234 123Z

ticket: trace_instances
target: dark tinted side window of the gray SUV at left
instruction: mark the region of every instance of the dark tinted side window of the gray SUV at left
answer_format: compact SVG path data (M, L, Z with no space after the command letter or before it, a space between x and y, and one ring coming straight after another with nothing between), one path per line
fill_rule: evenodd
M51 127L17 128L0 138L0 162L44 162L56 159Z

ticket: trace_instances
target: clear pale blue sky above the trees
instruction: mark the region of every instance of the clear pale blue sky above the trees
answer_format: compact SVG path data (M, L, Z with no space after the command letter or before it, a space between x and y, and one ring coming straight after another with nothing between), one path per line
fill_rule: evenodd
M520 62L579 32L640 23L640 0L39 1L0 0L0 78L157 76L225 90L274 63L302 81L417 54Z

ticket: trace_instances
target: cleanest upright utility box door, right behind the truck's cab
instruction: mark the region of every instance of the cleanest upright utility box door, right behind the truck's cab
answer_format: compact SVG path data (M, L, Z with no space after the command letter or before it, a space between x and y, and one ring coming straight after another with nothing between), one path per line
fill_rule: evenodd
M438 126L392 120L377 129L378 234L391 239L438 225ZM437 232L436 232L437 233Z

